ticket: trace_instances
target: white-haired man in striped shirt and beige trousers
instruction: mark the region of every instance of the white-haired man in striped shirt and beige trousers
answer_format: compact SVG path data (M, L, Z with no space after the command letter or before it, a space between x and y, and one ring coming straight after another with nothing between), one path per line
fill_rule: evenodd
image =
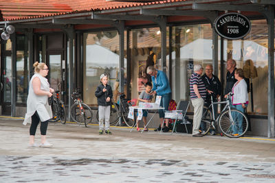
M199 126L201 125L201 116L203 112L204 99L206 99L206 86L201 80L203 68L200 64L194 65L194 73L192 73L189 81L190 99L194 107L193 130L192 136L201 137Z

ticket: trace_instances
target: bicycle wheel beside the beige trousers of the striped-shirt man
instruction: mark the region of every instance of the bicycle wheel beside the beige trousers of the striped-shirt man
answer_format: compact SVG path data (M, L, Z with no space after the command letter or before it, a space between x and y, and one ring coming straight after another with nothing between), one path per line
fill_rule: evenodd
M203 114L201 117L201 126L199 130L201 131L202 135L208 134L211 124L213 121L212 112L206 106L203 106Z

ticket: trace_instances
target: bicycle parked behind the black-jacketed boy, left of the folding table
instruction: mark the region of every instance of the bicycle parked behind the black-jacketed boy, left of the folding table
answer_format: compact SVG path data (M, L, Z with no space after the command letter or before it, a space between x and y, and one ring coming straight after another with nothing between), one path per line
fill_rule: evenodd
M120 96L119 103L121 103L121 105L115 103L115 101L111 99L110 125L119 125L120 120L122 120L123 125L125 124L129 127L133 127L135 122L133 119L128 118L129 107L132 106L131 100L125 99L126 95L123 93L118 93L118 95ZM98 111L96 112L96 119L99 121Z

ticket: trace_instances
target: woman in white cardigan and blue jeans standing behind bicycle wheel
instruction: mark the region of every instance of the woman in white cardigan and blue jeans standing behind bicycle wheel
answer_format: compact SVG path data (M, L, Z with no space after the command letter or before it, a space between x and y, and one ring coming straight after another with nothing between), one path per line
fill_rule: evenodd
M241 112L245 112L245 108L248 107L248 86L243 79L243 69L236 69L234 73L234 77L238 80L233 88L232 88L232 106L236 108L236 110L240 110ZM233 133L236 135L243 133L243 117L235 116L232 114L232 117L236 118L236 125L233 126Z

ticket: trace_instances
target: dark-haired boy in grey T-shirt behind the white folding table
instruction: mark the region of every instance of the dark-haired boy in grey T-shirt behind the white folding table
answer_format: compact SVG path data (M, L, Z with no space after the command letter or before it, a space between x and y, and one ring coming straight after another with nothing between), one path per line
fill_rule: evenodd
M140 102L151 102L152 101L152 98L153 98L153 95L151 95L151 89L152 89L152 84L151 82L146 82L145 84L145 90L142 91L142 93L140 93L140 97L138 99L138 101ZM148 132L148 129L145 128L146 126L146 123L147 123L147 120L146 120L146 117L147 117L147 110L142 110L142 114L143 114L143 123L144 123L144 131L145 132ZM137 132L140 131L140 127L138 127L138 123L139 121L137 121Z

